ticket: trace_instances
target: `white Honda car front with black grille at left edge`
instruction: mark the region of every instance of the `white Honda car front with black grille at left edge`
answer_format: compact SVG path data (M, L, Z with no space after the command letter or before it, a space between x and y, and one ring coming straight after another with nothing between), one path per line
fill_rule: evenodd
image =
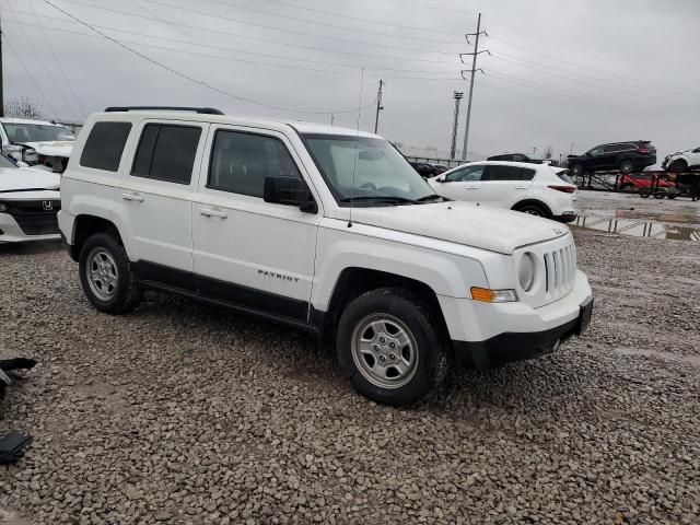
M60 176L0 155L0 244L60 238Z

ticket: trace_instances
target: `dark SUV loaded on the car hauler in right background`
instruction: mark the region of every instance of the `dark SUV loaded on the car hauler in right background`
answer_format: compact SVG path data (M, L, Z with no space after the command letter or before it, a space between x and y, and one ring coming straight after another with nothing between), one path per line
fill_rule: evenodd
M656 148L649 140L611 142L596 145L583 155L569 155L568 163L572 175L614 170L630 174L656 164Z

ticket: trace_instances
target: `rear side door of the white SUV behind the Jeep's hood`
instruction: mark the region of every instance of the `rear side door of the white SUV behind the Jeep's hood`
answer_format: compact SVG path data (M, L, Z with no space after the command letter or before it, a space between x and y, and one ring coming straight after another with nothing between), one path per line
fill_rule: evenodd
M489 164L486 166L478 202L495 208L512 208L527 197L535 173L529 167Z

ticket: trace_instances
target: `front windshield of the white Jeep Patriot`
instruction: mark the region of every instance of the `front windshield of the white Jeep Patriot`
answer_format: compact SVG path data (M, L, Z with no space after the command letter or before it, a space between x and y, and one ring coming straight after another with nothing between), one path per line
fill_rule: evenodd
M354 206L427 202L435 194L384 139L305 135L304 140L340 206L353 199L359 199Z

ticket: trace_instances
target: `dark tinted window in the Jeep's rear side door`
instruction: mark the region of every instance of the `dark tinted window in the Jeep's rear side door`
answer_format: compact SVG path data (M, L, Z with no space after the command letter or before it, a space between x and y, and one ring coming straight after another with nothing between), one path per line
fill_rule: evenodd
M131 175L189 184L201 128L147 124L133 158Z

